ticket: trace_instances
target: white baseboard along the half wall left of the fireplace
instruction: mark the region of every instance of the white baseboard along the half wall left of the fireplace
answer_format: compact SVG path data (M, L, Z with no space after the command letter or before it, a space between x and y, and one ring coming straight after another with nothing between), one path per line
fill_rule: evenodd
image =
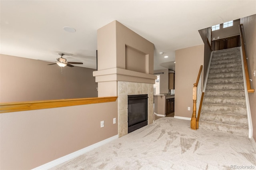
M36 168L34 168L32 170L48 170L48 169L50 169L50 168L52 168L54 166L57 166L57 165L59 165L59 164L61 164L63 162L66 162L66 161L68 161L68 160L70 160L72 158L76 158L77 156L80 156L80 155L82 155L82 154L84 154L84 153L86 153L86 152L88 152L88 151L90 151L92 149L98 148L99 146L102 146L102 145L104 145L104 144L106 144L108 142L111 142L112 140L115 140L117 138L118 138L118 134L116 136L112 136L112 137L107 138L105 140L102 140L102 141L100 141L98 143L95 143L95 144L92 144L90 146L87 146L86 148L80 149L80 150L78 150L76 152L73 152L73 153L68 154L66 156L63 156L61 158L58 158L56 160L53 160L51 162L48 162L48 163L43 164L41 166L38 166L38 167L36 167Z

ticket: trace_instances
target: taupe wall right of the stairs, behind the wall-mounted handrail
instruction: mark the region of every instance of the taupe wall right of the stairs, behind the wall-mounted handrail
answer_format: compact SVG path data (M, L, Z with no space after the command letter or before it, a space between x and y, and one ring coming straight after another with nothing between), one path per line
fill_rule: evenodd
M241 18L244 26L246 57L248 57L249 77L252 79L251 88L256 91L256 77L253 72L256 69L256 15ZM253 138L256 141L256 92L248 93L252 116Z

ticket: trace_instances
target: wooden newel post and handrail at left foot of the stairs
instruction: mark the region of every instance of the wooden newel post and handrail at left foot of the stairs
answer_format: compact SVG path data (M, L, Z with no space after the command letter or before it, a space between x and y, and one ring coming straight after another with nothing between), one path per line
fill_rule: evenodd
M197 130L198 129L198 121L199 121L199 117L200 117L200 113L198 112L198 120L196 119L196 98L197 98L197 86L198 86L198 82L202 73L202 68L203 66L200 66L199 72L198 72L198 76L196 79L196 83L194 83L194 87L193 87L193 113L192 113L192 117L191 117L191 121L190 121L190 128L193 130ZM204 95L202 94L202 97ZM199 108L202 107L202 97L201 97L201 101L200 101L200 106ZM200 109L201 111L201 109Z

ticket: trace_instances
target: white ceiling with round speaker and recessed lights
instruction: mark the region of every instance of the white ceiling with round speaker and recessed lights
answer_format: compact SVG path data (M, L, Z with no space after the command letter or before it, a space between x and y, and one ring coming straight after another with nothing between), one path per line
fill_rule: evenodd
M2 54L56 61L61 52L95 69L97 30L117 20L154 43L157 70L173 68L176 49L202 44L198 30L256 14L256 0L1 0L0 10Z

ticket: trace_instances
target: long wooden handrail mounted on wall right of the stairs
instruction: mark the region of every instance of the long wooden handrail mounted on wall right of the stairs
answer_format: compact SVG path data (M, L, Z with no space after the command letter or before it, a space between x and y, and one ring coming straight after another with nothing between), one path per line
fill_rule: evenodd
M242 46L242 53L243 53L243 60L244 60L244 72L245 72L245 79L246 79L246 87L247 87L248 93L254 93L254 89L251 89L251 85L250 85L250 78L249 78L249 73L248 73L247 57L246 57L246 53L245 53L245 47L244 47L245 43L244 43L242 27L243 27L243 24L240 24L239 28L240 28L241 46Z

